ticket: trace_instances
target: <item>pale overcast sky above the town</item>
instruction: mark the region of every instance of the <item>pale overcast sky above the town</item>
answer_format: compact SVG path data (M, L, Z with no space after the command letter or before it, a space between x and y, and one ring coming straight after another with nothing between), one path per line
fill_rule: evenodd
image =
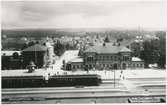
M2 28L165 29L164 2L3 1Z

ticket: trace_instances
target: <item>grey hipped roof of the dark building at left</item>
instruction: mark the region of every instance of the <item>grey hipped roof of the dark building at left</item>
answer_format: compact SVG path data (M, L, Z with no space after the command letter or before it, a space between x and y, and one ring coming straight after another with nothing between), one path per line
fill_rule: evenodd
M47 50L47 47L42 46L40 44L35 44L33 46L23 49L22 51L46 51L46 50Z

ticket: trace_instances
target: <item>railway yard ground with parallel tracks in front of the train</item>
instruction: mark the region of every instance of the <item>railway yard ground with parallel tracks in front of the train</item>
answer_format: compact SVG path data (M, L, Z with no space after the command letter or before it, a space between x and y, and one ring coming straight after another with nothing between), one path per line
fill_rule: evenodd
M165 79L112 80L100 86L2 89L2 103L126 103L131 97L166 97Z

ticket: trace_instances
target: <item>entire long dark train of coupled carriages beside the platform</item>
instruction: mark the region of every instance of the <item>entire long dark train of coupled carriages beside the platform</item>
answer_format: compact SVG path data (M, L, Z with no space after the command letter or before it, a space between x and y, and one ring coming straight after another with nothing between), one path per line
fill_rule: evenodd
M53 75L46 80L43 76L2 77L2 88L65 87L65 86L98 86L101 77L89 75Z

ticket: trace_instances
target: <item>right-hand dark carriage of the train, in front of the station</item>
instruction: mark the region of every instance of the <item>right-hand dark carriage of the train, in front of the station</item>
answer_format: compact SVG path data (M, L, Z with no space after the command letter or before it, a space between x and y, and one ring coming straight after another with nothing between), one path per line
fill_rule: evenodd
M47 86L97 86L101 82L99 75L54 75Z

